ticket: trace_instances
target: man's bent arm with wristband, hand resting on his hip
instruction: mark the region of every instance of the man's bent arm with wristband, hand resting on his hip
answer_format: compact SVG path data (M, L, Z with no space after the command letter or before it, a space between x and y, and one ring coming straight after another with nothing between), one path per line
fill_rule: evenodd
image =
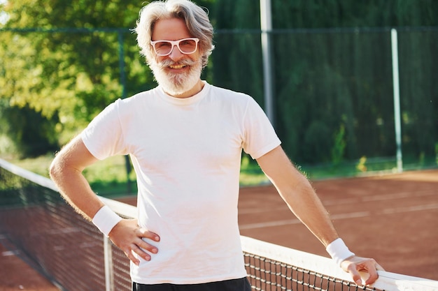
M109 217L114 217L116 214L108 213L108 209L104 208L105 204L92 191L90 184L83 176L85 167L97 161L97 158L85 147L81 138L79 136L75 137L59 151L52 161L50 177L57 185L61 195L78 213L90 221L93 220L95 223L96 220L93 218L96 218L95 216L99 212L99 221L106 223ZM150 254L146 251L157 253L157 248L147 244L142 239L148 238L160 241L160 237L157 234L139 227L134 219L122 219L116 223L111 225L106 234L116 246L125 252L129 260L132 260L134 264L139 264L139 259L136 258L137 255L141 256L144 260L150 260ZM146 251L143 251L143 249Z

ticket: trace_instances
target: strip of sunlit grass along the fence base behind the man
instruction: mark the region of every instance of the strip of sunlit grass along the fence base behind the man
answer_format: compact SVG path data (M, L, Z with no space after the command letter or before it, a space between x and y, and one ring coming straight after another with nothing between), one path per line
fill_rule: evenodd
M13 156L1 157L41 176L48 177L48 168L53 159L52 155L40 156L38 158L17 159ZM437 167L438 161L407 161L404 170L420 170ZM410 162L410 163L409 163ZM299 165L297 166L303 174L311 180L330 179L337 177L355 177L365 174L377 174L379 172L396 172L395 158L360 158L358 161L347 161L333 165L330 163L322 165ZM120 195L134 195L136 193L136 177L134 171L129 175L126 169L125 156L114 156L104 161L99 161L84 171L84 175L93 190L105 197ZM129 177L129 180L127 179ZM269 180L263 174L257 163L248 156L243 156L241 163L240 185L256 186L268 184Z

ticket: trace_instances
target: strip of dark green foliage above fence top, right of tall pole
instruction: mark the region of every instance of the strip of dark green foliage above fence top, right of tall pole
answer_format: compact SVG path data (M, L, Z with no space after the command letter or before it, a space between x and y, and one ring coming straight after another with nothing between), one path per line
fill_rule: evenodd
M437 26L435 0L272 1L277 29Z

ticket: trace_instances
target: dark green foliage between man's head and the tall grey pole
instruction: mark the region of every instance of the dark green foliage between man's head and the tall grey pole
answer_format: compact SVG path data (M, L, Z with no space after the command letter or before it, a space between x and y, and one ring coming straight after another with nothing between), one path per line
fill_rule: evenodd
M216 1L216 48L211 59L214 64L213 84L249 94L263 105L260 33L220 31L220 29L260 29L259 9L258 3L251 0Z

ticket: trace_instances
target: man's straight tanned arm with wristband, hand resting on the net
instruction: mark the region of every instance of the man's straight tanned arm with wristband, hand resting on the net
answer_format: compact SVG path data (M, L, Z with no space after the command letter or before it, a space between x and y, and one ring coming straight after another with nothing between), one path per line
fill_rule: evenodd
M374 259L360 258L353 253L348 255L348 248L339 239L330 215L316 195L309 180L297 170L283 149L280 146L276 147L257 158L257 163L274 184L293 214L309 228L325 248L328 246L327 251L332 255L332 258L338 261L344 271L351 274L353 281L362 285L359 271L367 271L369 278L365 284L374 283L379 277L376 269L383 270L383 268ZM345 254L348 255L347 258L342 257ZM339 262L339 258L341 262Z

